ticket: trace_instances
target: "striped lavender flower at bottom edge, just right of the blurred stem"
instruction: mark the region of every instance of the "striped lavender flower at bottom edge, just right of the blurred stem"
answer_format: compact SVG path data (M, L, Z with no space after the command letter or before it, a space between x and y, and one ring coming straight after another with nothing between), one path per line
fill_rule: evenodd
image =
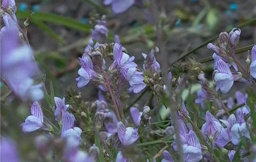
M202 150L201 150L201 144L199 142L199 139L196 137L196 134L194 131L189 131L186 128L185 123L179 119L178 120L179 129L180 129L180 137L182 142L182 150L184 153L184 160L185 162L199 162L202 160ZM178 151L177 146L177 138L176 135L174 135L174 143L171 145L173 146L173 149L175 151Z

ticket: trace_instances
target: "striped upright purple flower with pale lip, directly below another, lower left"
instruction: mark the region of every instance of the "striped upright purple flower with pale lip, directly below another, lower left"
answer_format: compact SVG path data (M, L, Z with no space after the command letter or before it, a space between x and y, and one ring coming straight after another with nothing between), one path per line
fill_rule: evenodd
M74 115L69 112L65 112L62 118L62 129L61 137L74 137L76 139L81 139L82 130L79 127L74 127Z

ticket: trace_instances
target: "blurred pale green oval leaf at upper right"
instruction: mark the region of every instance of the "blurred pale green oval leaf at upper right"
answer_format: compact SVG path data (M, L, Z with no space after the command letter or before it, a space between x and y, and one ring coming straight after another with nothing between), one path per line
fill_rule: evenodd
M220 12L217 9L210 9L206 15L206 24L210 31L215 31L217 24L219 23Z

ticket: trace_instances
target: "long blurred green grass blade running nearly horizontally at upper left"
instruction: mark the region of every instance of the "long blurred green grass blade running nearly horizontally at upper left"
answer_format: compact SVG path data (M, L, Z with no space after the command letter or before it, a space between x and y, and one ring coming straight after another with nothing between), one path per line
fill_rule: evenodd
M18 10L16 12L17 18L20 19L27 19L27 17L31 14L29 11L21 12ZM64 16L58 16L52 13L42 13L42 12L35 12L31 18L31 21L37 20L37 21L43 21L43 22L49 22L53 24L63 25L69 28L73 28L79 31L84 31L90 33L90 25L82 24L72 18L64 17Z

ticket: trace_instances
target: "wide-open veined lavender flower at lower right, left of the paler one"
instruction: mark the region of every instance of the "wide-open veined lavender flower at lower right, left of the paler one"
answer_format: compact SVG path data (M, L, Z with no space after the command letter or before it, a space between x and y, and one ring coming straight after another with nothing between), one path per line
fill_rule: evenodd
M229 134L221 123L207 111L205 114L206 123L202 125L202 135L213 146L217 145L223 148L229 142Z

